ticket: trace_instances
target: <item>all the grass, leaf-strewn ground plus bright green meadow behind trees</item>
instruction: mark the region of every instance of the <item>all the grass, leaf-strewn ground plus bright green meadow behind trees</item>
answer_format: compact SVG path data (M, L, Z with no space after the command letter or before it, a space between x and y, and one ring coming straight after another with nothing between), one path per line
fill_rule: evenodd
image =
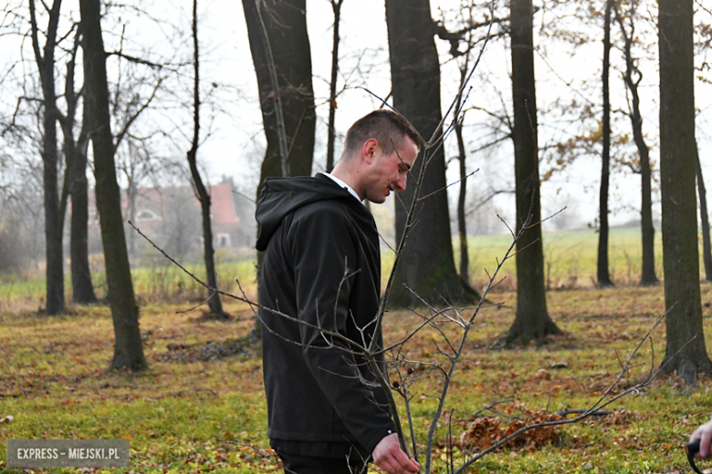
M635 229L611 232L610 261L613 289L596 289L596 246L593 231L555 232L543 237L552 318L565 331L548 344L514 350L490 346L514 319L516 294L511 283L497 289L497 301L506 306L477 316L446 404L453 419L467 419L497 400L502 411L514 415L547 407L588 407L601 396L620 369L620 358L664 312L662 286L639 288L640 233ZM510 237L470 238L473 281L484 282L484 269L493 270ZM660 238L656 239L658 255ZM455 256L456 258L456 256ZM659 256L658 256L659 260ZM384 252L382 264L393 264ZM253 260L219 263L223 288L238 293L239 278L254 298ZM660 264L657 266L661 273ZM201 265L189 265L201 278ZM504 269L516 281L513 262ZM101 273L95 274L99 295L105 291ZM226 301L229 323L205 320L201 310L178 313L194 306L202 289L171 266L133 270L141 304L141 331L150 368L144 373L109 372L113 326L109 308L69 306L67 314L47 317L37 313L43 304L41 279L5 279L0 283L0 472L4 468L8 438L129 438L131 469L117 472L230 472L277 471L266 438L266 406L261 362L255 348L244 354L207 362L166 362L170 344L221 341L246 335L254 325L249 310ZM384 272L384 278L387 272ZM68 279L67 279L67 283ZM623 283L623 284L622 284ZM68 287L68 294L70 288ZM712 286L702 285L703 304L712 304ZM707 312L708 310L706 310ZM384 327L386 341L395 341L418 324L414 314L391 312ZM712 317L705 314L707 346L712 344ZM453 329L448 328L448 334ZM409 358L444 362L437 346L442 335L424 331L405 347ZM654 333L654 352L645 345L626 381L644 376L665 354L665 328ZM169 357L170 358L170 357ZM551 369L556 362L568 366ZM543 371L543 372L542 372ZM542 376L545 374L545 376ZM395 375L392 375L395 377ZM416 438L421 448L442 377L424 373L413 386ZM648 473L686 469L682 444L712 411L712 382L703 378L696 389L682 386L675 376L665 376L637 396L625 397L610 408L612 418L591 419L561 428L557 437L531 447L515 444L476 463L472 472L547 473ZM403 414L403 407L400 408ZM493 415L490 413L490 415ZM444 440L447 420L437 429L437 472L445 472ZM504 425L506 426L506 424ZM458 438L466 422L455 422ZM257 450L255 449L257 448ZM462 451L456 451L461 453ZM671 470L672 469L672 470ZM94 469L95 472L110 472ZM77 472L44 469L38 472Z

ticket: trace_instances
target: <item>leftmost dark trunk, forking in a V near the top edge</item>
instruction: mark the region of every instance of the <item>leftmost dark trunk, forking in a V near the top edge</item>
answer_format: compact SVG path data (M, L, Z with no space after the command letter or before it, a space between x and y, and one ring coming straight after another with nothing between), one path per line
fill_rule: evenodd
M47 258L47 307L46 314L58 314L64 310L64 251L62 247L62 223L59 202L59 157L57 149L57 92L55 89L55 47L61 0L52 4L47 23L45 46L40 50L35 1L29 0L32 28L32 47L42 85L42 163L45 193L45 240Z

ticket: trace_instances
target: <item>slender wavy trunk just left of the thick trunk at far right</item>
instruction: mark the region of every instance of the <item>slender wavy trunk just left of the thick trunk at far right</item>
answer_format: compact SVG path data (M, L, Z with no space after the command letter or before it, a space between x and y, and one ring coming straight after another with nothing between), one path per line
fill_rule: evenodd
M653 225L653 192L650 184L650 151L645 143L643 135L643 116L640 113L640 95L638 85L643 80L643 73L633 64L631 49L633 47L633 35L635 32L635 3L631 4L631 32L630 35L625 30L623 17L618 6L615 8L615 17L621 26L621 33L625 46L623 55L625 57L625 75L623 80L625 86L631 91L633 97L633 107L631 110L631 125L633 127L633 141L640 155L641 173L641 233L643 237L643 269L640 283L644 286L651 286L660 283L655 276L655 228ZM637 74L633 80L633 72Z

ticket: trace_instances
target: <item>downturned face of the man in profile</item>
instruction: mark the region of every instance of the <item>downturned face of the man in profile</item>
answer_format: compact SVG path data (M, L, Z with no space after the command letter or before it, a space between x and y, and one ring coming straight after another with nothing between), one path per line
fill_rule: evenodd
M417 157L418 147L410 137L403 139L400 149L390 155L384 155L381 147L378 147L369 167L365 198L381 204L391 191L405 190L408 171Z

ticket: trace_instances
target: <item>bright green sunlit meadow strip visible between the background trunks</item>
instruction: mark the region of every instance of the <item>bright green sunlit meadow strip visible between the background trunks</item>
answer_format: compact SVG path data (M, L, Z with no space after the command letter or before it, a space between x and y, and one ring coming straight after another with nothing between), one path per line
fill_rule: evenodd
M594 286L596 281L596 263L598 233L594 230L547 232L543 235L545 274L549 289L578 288ZM636 228L614 228L609 235L609 267L613 282L616 284L637 283L641 272L641 237ZM497 266L511 243L510 235L487 235L470 237L469 274L470 281L476 286L487 281L487 271ZM459 262L459 243L454 241L455 262ZM701 253L700 253L701 262ZM204 265L186 264L187 269L204 280ZM393 252L382 252L383 280L388 278L393 267ZM662 239L659 233L655 237L655 267L658 276L662 276ZM254 288L256 262L253 259L239 262L217 263L218 281L223 290L239 293L236 279L246 289ZM703 265L700 263L700 271ZM183 273L167 261L158 265L140 266L132 269L136 294L144 301L180 301L185 298L198 299L204 290L189 275ZM500 291L511 290L516 283L516 269L512 261L503 269L508 281L500 286ZM93 274L94 284L99 297L106 294L104 273ZM71 279L65 277L67 294L71 294ZM3 301L32 300L38 304L44 301L45 283L43 278L0 278L0 304Z

